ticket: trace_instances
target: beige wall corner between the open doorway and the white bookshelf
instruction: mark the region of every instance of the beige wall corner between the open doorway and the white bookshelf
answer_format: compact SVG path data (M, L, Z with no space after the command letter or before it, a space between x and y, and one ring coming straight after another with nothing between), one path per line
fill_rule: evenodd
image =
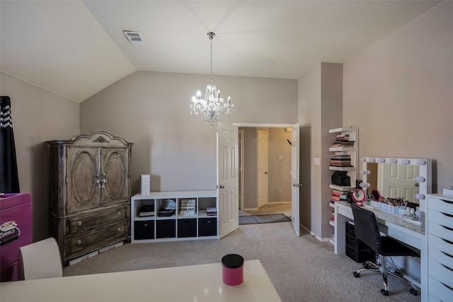
M300 221L319 238L330 238L328 221L331 171L328 170L333 135L329 129L342 126L342 64L319 63L299 79L300 138ZM314 158L321 165L314 165Z

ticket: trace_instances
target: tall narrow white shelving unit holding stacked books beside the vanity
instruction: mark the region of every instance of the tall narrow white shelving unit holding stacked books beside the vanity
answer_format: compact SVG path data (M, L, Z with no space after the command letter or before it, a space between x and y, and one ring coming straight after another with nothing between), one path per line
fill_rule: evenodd
M331 171L345 171L348 173L348 176L350 177L350 185L348 186L342 186L342 185L333 185L332 183L329 185L329 187L334 191L341 191L341 192L348 192L352 189L355 188L355 181L357 180L357 175L359 171L359 129L355 127L340 127L340 128L335 128L335 129L330 129L328 131L329 134L348 134L349 135L349 141L354 141L354 146L338 146L338 147L330 147L328 149L329 152L331 153L340 153L342 155L348 155L350 156L350 163L351 167L346 166L346 167L341 167L341 166L334 166L330 165L329 163L329 170ZM333 138L335 139L335 138ZM332 202L330 202L330 206L334 207ZM334 227L335 223L329 219L329 224ZM332 232L334 233L334 232ZM333 245L335 244L335 238L334 236L329 240L330 243Z

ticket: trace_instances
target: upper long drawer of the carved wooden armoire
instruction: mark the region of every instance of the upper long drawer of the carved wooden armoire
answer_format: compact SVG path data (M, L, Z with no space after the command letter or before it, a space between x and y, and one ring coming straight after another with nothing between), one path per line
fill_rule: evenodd
M96 211L96 213L90 215L76 216L68 219L67 236L79 232L88 232L97 226L110 221L121 221L123 219L127 219L128 214L129 207L125 205L122 207Z

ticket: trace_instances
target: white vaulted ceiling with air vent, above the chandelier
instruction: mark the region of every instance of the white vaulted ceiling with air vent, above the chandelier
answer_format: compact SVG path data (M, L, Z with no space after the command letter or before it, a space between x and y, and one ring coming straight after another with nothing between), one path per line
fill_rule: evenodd
M1 0L0 69L81 102L134 71L210 74L213 31L214 75L299 79L439 2Z

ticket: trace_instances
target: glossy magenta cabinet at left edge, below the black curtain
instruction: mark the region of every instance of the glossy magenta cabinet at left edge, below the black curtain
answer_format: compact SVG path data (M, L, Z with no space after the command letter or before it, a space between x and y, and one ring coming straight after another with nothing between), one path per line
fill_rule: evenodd
M18 251L23 245L32 243L32 207L28 193L4 194L0 198L0 224L16 221L16 228L1 233L0 245L0 281L18 279ZM18 235L17 239L9 241Z

